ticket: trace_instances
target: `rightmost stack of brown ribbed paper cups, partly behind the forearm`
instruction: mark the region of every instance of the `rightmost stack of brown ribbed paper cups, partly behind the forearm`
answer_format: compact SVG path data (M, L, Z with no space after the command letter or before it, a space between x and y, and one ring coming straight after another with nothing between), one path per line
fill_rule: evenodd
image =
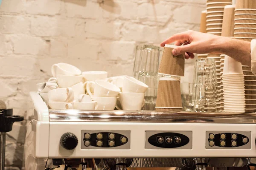
M251 41L256 39L256 0L237 0L235 10L234 38ZM250 71L251 68L243 65L246 112L256 111L256 76Z

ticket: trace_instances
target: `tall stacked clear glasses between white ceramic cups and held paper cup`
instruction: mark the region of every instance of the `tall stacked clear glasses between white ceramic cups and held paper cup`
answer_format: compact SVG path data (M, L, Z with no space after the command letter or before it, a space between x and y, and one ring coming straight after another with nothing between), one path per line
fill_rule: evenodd
M142 110L155 110L158 85L160 48L154 45L138 45L135 51L134 78L148 85Z

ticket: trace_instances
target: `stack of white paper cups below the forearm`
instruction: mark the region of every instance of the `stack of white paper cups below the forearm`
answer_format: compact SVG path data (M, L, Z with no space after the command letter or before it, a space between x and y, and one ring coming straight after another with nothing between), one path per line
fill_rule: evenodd
M245 112L244 74L241 63L225 55L223 70L225 112Z

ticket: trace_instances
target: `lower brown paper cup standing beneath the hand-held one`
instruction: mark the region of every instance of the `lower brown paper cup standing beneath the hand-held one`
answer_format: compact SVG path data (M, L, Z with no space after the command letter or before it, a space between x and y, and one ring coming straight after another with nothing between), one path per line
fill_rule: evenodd
M157 89L156 107L182 108L180 81L159 81Z

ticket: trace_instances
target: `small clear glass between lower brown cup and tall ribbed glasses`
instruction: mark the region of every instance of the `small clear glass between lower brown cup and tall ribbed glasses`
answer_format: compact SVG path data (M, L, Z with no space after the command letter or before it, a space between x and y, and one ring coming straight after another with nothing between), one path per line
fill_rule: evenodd
M193 83L180 83L182 110L193 111Z

